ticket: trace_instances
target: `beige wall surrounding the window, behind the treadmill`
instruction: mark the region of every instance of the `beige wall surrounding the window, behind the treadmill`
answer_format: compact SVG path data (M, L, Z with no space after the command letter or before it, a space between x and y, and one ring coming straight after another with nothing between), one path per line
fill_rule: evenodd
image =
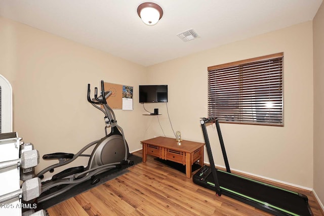
M194 43L195 41L188 41ZM183 139L203 142L199 118L207 117L207 67L284 52L284 127L221 124L232 168L287 183L313 185L313 45L306 22L148 67L148 83L169 85L169 114ZM145 136L173 136L165 104ZM216 129L208 128L216 164L224 165ZM205 154L205 161L208 161Z

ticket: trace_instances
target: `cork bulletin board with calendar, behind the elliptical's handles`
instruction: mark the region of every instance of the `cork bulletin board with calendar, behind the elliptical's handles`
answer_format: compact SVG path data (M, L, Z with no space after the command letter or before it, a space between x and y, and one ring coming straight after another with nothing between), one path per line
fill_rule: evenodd
M104 82L105 91L111 91L107 103L112 109L133 110L133 87Z

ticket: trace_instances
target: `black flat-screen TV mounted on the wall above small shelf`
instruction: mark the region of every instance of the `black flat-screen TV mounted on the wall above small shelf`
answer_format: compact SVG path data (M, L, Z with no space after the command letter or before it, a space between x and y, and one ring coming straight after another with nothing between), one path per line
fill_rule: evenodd
M140 85L140 103L168 102L168 85Z

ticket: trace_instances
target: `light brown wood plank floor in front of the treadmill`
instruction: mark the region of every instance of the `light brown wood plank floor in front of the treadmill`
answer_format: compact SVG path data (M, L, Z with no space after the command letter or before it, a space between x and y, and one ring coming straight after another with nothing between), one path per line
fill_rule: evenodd
M134 153L142 156L142 152ZM127 174L48 209L49 215L271 215L235 199L193 184L192 178L148 156ZM283 187L282 185L280 185ZM324 215L311 192L315 216Z

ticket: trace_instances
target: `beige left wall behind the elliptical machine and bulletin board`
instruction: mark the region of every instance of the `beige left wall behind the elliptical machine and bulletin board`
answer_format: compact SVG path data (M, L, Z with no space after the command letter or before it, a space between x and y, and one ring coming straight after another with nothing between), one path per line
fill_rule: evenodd
M132 85L136 93L146 82L143 66L1 17L0 29L0 74L13 88L14 131L41 155L76 153L104 137L103 113L87 102L88 83L92 93L101 79ZM144 136L139 107L135 94L133 111L115 110L130 151L141 148ZM36 169L50 163L41 159Z

